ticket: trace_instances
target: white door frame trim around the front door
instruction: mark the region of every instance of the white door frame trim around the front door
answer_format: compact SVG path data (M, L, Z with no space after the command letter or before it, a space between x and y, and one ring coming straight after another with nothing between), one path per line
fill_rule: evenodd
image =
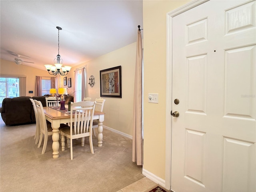
M209 0L192 2L166 14L166 152L165 152L165 188L171 188L171 149L172 149L172 18Z

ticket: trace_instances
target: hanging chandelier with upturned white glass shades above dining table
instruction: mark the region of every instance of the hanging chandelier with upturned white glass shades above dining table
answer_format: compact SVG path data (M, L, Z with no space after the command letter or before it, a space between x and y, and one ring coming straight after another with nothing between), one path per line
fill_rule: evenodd
M58 29L58 55L57 58L54 59L54 65L44 65L46 67L46 70L48 70L48 73L50 75L57 75L60 74L62 76L67 75L70 71L70 66L64 66L62 67L63 60L60 58L60 30L62 30L61 27L56 27Z

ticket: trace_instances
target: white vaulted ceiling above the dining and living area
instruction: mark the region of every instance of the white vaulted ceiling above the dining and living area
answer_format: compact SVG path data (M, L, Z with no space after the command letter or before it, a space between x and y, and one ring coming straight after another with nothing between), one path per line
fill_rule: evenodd
M1 0L0 58L20 54L46 70L58 54L75 66L136 42L142 0Z

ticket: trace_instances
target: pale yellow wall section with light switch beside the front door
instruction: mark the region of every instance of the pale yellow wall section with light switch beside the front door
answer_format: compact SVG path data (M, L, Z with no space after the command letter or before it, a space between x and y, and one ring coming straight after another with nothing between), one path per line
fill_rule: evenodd
M165 180L166 14L189 1L144 0L144 164L143 169ZM158 104L148 94L158 93Z

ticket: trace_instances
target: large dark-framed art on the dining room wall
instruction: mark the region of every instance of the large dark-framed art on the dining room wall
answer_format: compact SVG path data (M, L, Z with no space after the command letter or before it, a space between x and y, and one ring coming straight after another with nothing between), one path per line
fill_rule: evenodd
M121 66L100 70L100 96L122 98Z

